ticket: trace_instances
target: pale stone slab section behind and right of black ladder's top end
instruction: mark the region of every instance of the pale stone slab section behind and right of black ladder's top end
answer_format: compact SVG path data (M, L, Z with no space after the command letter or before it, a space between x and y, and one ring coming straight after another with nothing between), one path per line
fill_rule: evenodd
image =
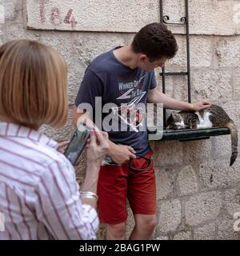
M191 34L233 35L239 33L239 3L234 0L197 0L189 2ZM164 14L170 16L170 22L180 22L185 16L185 5L180 0L164 1ZM174 33L184 33L184 29L173 27Z

